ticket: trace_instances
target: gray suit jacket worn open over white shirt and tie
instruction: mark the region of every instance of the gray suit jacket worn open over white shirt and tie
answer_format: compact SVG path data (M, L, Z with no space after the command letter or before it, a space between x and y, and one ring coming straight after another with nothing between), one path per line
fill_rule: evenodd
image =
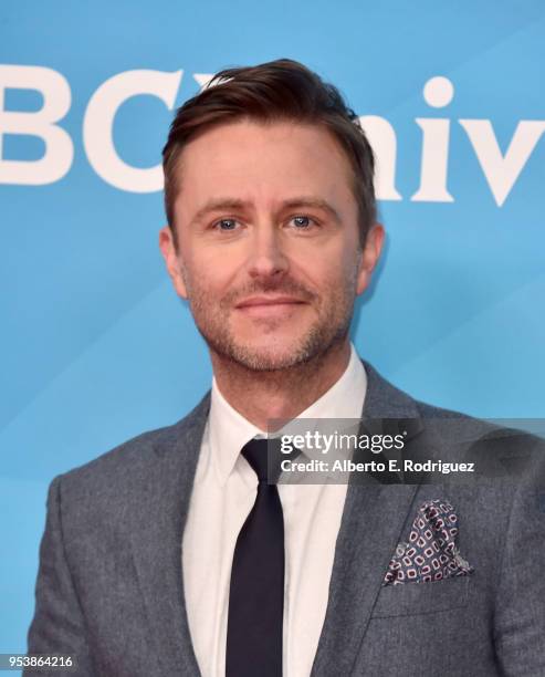
M364 417L421 419L416 439L427 417L470 425L366 371ZM199 675L181 542L209 404L53 480L29 653L75 655L76 675ZM433 498L454 506L473 573L382 586L396 544ZM350 485L312 676L543 677L543 498L521 482Z

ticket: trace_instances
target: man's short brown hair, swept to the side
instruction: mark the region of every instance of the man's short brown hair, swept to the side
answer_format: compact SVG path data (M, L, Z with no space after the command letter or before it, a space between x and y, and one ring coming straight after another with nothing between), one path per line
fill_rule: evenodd
M360 243L365 243L376 218L373 149L359 118L338 90L291 59L226 69L178 108L163 149L165 210L175 242L176 170L184 146L199 133L237 119L316 124L333 133L354 170L353 191L358 205Z

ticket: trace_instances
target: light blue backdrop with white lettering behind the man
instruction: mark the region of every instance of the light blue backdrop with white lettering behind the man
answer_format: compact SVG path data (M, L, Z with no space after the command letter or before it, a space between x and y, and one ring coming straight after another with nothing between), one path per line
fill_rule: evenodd
M44 142L2 138L0 652L25 648L50 480L177 420L211 375L159 257L160 192L119 189L96 173L83 143L88 103L119 73L182 70L179 105L198 91L195 75L281 56L337 84L359 115L388 121L397 138L401 199L380 204L389 240L358 308L359 352L437 405L479 416L544 413L545 139L531 138L545 124L541 0L2 2L2 92L11 84L0 132L13 119L6 112L44 105L25 88L29 71L13 66L52 69L70 86L59 125L74 156L59 180L28 185L31 165L17 178L6 160L36 160ZM454 88L441 108L422 95L434 76ZM118 156L156 165L170 117L157 96L128 98L113 123ZM452 201L410 199L422 162L416 118L450 121ZM472 144L459 119L490 121L496 155L481 135L479 160L479 138ZM515 136L521 121L534 126ZM500 190L502 180L512 185L499 205L490 184Z

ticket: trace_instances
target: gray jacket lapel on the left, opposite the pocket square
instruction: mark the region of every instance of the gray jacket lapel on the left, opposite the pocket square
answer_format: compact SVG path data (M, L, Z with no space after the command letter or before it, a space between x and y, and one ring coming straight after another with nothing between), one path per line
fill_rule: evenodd
M200 675L186 611L181 542L209 407L207 395L166 429L132 515L134 561L161 675Z

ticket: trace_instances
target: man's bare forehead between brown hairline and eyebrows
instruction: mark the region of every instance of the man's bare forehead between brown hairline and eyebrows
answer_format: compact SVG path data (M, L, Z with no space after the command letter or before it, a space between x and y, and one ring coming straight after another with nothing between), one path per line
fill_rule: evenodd
M192 139L176 168L176 210L199 209L210 197L274 204L314 195L354 204L353 170L325 127L292 122L238 121Z

